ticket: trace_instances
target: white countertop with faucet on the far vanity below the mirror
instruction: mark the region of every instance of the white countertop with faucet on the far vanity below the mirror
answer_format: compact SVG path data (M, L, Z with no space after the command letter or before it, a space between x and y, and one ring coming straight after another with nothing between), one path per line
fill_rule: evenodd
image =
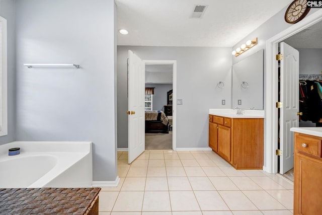
M242 109L243 114L237 114L234 109L209 109L209 114L216 116L224 116L229 118L265 118L264 110L245 110Z

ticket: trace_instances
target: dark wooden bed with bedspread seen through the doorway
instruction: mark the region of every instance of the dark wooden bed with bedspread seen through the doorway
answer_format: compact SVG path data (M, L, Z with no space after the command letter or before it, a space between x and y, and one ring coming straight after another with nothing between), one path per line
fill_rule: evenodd
M145 111L145 133L169 133L169 119L163 111Z

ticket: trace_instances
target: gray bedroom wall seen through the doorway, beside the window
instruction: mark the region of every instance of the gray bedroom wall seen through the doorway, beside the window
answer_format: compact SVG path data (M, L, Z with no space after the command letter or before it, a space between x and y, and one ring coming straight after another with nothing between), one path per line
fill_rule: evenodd
M154 87L153 110L165 110L167 105L167 92L172 90L169 84L145 84L145 87Z

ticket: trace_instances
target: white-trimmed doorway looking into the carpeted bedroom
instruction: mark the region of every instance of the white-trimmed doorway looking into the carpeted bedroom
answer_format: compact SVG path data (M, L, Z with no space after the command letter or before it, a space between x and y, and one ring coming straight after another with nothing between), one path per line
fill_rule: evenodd
M145 121L145 150L176 150L177 61L143 60L143 62L145 87L153 89L152 97L147 98L145 95L145 100L151 100L146 101L145 109L156 112L159 118L166 116L168 120L160 125Z

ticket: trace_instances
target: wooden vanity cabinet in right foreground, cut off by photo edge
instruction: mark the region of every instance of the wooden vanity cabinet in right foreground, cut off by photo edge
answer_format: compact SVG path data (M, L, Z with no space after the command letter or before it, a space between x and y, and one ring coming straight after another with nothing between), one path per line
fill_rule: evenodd
M322 137L294 133L294 214L320 214Z

